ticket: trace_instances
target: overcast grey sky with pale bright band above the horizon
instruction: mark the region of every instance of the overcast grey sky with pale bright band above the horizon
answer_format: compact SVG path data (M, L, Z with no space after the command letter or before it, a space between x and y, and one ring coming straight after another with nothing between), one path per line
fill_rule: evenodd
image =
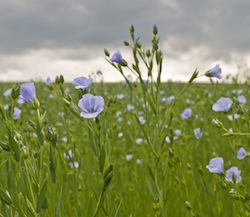
M1 0L0 81L71 81L101 70L122 77L103 49L131 60L129 28L143 46L159 30L163 79L188 80L220 64L223 75L250 66L249 0Z

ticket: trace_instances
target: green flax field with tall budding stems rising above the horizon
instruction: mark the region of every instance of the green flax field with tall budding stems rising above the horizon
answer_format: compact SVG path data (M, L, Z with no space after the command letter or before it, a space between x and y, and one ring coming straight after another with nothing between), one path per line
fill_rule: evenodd
M250 215L249 80L207 76L200 83L206 72L195 70L186 84L163 83L156 29L149 50L132 27L130 34L132 42L124 44L132 49L129 69L137 81L123 71L130 63L110 61L105 50L127 85L93 82L76 89L57 76L33 82L35 97L23 103L25 82L1 83L0 216ZM104 99L94 118L80 115L79 100L88 93ZM228 111L213 109L221 97L232 100ZM15 118L14 108L21 110ZM186 108L192 112L183 117ZM246 150L241 159L240 148ZM215 157L224 160L221 172L207 168ZM240 180L226 178L233 166Z

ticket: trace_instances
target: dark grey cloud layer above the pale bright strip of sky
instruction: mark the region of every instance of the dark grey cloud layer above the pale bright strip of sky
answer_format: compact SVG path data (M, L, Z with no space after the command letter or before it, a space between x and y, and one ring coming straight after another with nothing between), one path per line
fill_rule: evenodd
M205 47L204 58L230 62L249 54L249 8L248 0L3 0L0 55L49 49L62 59L91 59L119 49L132 24L149 46L156 24L173 58Z

